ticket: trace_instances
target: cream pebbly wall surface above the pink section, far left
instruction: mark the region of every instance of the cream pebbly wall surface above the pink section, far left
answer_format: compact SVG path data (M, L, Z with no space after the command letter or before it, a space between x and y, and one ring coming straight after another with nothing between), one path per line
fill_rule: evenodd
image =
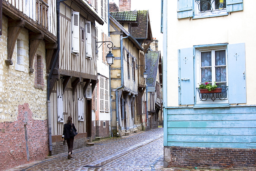
M44 89L37 89L34 86L35 72L28 72L28 55L29 55L29 38L28 30L22 29L18 40L23 41L23 57L25 72L15 70L17 65L17 45L13 52L13 65L6 65L7 59L7 18L3 17L3 32L0 44L0 122L17 121L18 106L24 103L29 104L32 111L33 119L45 120L47 119L46 100L47 100L47 82L45 78L45 43L40 42L37 53L41 55L44 63ZM36 59L34 59L35 62ZM34 63L33 63L34 68Z

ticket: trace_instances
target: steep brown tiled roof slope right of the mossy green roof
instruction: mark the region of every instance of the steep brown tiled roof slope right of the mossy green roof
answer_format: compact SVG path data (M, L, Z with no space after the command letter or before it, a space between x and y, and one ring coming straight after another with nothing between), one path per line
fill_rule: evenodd
M148 31L148 10L139 10L138 27L132 27L131 35L136 38L147 38Z

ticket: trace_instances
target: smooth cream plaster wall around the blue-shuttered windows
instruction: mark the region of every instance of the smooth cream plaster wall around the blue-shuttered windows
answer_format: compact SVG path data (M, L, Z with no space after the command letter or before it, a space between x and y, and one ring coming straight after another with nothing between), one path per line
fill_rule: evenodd
M176 3L167 1L167 106L178 106L178 49L217 43L245 43L247 105L255 104L256 1L243 1L242 11L227 16L201 19L177 19Z

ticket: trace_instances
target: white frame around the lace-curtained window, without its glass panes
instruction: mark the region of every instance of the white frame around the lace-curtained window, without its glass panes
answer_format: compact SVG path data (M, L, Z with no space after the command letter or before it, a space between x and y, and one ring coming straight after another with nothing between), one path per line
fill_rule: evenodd
M207 47L200 47L200 48L195 48L195 52L196 52L196 59L195 59L195 67L194 69L195 71L195 87L196 87L196 91L195 91L195 104L222 104L222 103L228 103L229 102L229 97L228 97L228 91L227 91L227 99L226 100L217 100L215 99L214 101L212 101L211 99L209 100L200 100L199 98L199 93L197 91L197 89L199 88L199 85L201 83L201 52L207 52L207 51L211 51L211 68L212 68L212 82L216 81L216 66L215 65L215 51L216 50L226 50L225 54L226 54L226 86L228 86L228 49L227 49L227 45L222 45L222 46L207 46ZM219 66L217 66L219 67Z

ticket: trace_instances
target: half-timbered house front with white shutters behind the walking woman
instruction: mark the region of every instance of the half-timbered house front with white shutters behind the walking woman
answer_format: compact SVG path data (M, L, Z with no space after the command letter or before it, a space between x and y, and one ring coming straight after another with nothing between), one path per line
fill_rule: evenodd
M60 3L60 52L51 80L51 125L53 154L63 152L63 125L71 116L77 128L75 147L92 140L92 93L98 81L95 22L104 21L88 2Z

